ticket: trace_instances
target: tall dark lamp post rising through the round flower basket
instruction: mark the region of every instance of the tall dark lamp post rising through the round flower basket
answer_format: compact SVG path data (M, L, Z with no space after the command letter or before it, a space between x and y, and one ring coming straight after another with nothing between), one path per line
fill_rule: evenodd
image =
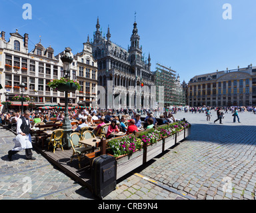
M65 53L61 57L61 61L63 63L64 77L69 79L70 78L70 67L71 67L71 63L73 62L73 58L71 57L69 49L65 49ZM70 138L70 134L72 132L72 126L71 126L71 122L69 120L68 93L69 93L69 91L65 91L65 117L64 117L63 125L62 125L62 128L64 130L63 146L65 146L65 148L71 148L71 143L69 141L69 138Z

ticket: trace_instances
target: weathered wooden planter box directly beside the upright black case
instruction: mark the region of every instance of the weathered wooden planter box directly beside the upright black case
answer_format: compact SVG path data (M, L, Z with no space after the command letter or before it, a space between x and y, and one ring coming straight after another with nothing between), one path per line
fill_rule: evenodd
M117 160L117 179L143 164L143 149L130 155L119 156Z

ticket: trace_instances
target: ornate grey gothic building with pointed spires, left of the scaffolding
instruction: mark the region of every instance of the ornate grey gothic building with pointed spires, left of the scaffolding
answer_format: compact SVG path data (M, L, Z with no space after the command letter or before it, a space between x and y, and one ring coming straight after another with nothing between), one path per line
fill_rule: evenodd
M93 57L98 64L98 104L101 108L155 108L155 87L150 55L144 60L137 23L128 50L111 42L99 30L93 35Z

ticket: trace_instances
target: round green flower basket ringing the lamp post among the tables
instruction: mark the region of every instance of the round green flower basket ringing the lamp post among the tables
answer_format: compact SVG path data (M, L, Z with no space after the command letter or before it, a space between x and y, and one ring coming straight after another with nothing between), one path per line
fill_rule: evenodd
M51 89L57 89L57 91L71 91L75 92L76 90L80 90L81 86L77 81L67 79L62 77L61 79L53 79L48 84Z

